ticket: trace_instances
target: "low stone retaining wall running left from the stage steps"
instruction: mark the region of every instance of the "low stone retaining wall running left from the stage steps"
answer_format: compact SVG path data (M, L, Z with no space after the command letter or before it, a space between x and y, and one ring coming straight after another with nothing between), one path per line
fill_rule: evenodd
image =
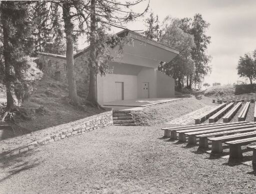
M48 137L44 137L38 141L34 141L25 146L21 146L8 152L5 152L3 155L16 155L19 153L26 152L31 150L37 146L46 145L50 142L58 141L64 138L85 134L86 132L92 131L94 129L105 128L113 124L112 119L112 110L104 113L100 113L98 115L93 115L91 117L87 117L84 119L79 119L77 121L70 122L70 126L61 130L54 135L50 135ZM61 127L61 125L56 126Z

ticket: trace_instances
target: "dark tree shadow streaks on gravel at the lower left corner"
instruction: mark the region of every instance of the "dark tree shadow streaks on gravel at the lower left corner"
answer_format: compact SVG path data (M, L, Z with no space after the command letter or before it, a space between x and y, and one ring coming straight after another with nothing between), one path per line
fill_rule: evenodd
M11 176L16 175L22 171L34 168L40 165L43 160L33 159L28 160L29 156L33 155L38 151L30 151L24 154L19 154L15 156L4 156L0 158L0 169L1 172L5 175L0 177L0 183L6 179L9 179Z

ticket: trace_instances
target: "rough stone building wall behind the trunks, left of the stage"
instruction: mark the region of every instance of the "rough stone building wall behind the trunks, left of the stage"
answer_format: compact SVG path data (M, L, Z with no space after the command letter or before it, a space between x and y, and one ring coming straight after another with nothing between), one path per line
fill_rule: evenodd
M47 73L57 81L67 82L66 60L63 57L57 57L52 54L38 54L39 66L44 73ZM89 67L86 62L86 56L80 55L74 58L75 81L77 94L81 97L87 97L89 87Z

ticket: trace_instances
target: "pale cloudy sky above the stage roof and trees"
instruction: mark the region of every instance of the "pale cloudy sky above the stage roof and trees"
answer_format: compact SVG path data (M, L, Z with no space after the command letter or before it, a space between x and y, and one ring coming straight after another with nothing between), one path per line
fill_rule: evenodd
M144 7L145 4L141 4L135 10ZM150 9L160 21L167 15L182 18L201 13L203 19L210 23L208 54L212 56L212 72L204 82L232 84L242 80L237 75L236 65L239 56L256 49L256 0L150 0ZM143 19L127 27L131 30L145 29Z

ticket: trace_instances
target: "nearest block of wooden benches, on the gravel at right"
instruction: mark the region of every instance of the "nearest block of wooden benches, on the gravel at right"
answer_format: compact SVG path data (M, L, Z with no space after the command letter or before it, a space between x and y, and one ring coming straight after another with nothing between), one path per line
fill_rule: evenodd
M256 142L256 122L234 122L234 123L207 123L189 125L182 127L162 128L164 136L172 140L196 144L199 139L199 148L208 148L208 141L211 142L211 152L221 153L222 143L229 145L229 158L237 159L242 157L241 146ZM253 149L253 162L256 162L256 146L249 146Z

